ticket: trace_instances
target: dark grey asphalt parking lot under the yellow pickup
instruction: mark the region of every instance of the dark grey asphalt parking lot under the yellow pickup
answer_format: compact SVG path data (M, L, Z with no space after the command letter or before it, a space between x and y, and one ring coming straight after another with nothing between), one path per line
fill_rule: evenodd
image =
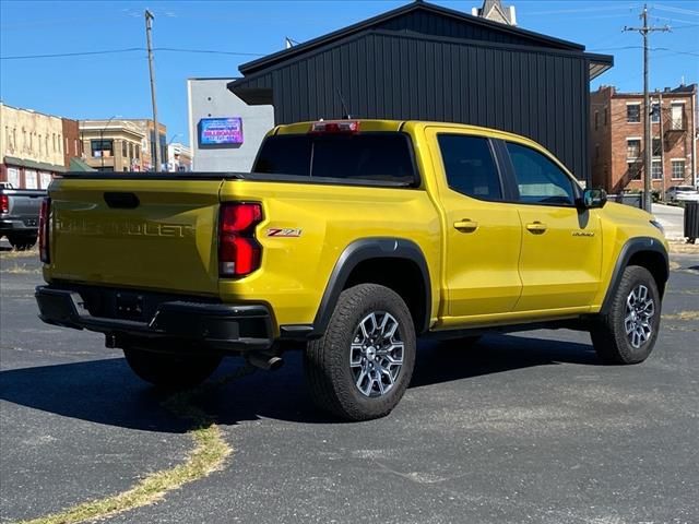
M215 471L107 522L699 522L699 252L673 257L642 365L601 366L568 331L422 344L391 416L337 424L310 405L297 355L274 373L229 359L174 409L102 336L43 324L36 253L4 246L0 522L175 471L201 444L192 409L227 446Z

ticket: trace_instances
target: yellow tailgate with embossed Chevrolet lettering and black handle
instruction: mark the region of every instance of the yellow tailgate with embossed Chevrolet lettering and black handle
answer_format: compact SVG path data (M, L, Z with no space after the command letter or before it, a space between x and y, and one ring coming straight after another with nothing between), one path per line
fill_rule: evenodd
M221 183L56 180L46 278L216 295Z

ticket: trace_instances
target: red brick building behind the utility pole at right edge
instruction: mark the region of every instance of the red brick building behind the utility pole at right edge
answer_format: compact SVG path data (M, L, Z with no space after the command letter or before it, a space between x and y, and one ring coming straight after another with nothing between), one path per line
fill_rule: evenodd
M590 99L592 183L611 193L643 189L643 94L601 86ZM697 183L697 85L651 93L651 186Z

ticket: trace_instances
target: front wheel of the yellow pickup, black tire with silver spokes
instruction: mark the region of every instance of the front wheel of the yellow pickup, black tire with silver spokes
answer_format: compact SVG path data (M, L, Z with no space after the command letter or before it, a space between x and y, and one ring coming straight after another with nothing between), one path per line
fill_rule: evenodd
M650 318L647 318L647 313L639 314L637 308L627 303L628 300L631 300L631 303L637 302L631 298L631 293L638 291L639 286L648 290L648 300L653 303L653 313ZM629 309L627 310L627 308ZM649 308L641 309L648 311ZM629 317L631 319L629 326L637 325L638 327L627 334L627 317L631 314L630 311L633 311L633 317ZM660 317L661 299L655 279L645 267L629 265L624 270L621 282L614 291L609 312L599 315L590 330L592 344L597 356L605 364L642 362L651 354L657 340ZM644 324L650 327L650 333L645 334L641 321L644 321ZM644 340L637 330L645 334Z

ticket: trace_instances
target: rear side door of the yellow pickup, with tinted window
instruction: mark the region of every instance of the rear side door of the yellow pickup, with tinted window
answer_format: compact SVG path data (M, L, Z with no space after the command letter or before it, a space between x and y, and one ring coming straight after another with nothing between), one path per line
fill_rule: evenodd
M522 287L522 233L517 206L502 203L493 144L453 128L428 128L428 139L446 221L442 317L455 326L469 317L508 313Z

